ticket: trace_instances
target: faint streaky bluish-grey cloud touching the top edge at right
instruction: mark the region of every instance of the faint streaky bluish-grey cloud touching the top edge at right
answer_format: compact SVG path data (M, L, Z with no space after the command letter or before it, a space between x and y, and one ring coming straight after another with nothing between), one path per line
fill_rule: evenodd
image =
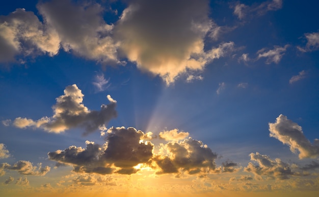
M247 6L239 2L236 5L231 5L230 8L234 9L233 14L238 17L238 19L243 20L246 17L253 17L255 15L264 15L269 11L276 11L282 8L282 0L265 1L261 4L254 4L252 6Z

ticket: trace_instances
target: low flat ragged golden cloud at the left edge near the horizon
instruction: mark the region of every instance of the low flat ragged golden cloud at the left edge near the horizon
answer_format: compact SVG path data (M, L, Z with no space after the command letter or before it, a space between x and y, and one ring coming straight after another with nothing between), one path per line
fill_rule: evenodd
M50 167L45 166L42 168L42 163L38 163L38 166L36 167L33 166L30 161L20 160L14 163L12 166L8 163L1 163L0 172L4 170L18 171L18 173L21 175L44 176L50 171Z

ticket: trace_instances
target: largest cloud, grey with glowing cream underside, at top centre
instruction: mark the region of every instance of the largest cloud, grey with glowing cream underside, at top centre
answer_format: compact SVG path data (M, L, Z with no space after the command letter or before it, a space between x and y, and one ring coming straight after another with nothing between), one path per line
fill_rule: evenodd
M208 7L206 0L132 1L115 25L115 38L139 69L162 77L169 85L179 74L201 71L221 56L204 51L204 37L214 28Z

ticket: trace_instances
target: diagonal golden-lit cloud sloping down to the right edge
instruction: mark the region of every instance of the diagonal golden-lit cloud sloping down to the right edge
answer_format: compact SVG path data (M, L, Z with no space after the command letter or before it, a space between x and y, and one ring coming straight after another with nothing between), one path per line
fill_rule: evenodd
M305 137L302 127L280 114L275 123L269 123L270 137L274 137L290 147L293 153L299 152L299 158L316 158L319 155L319 140L314 143Z

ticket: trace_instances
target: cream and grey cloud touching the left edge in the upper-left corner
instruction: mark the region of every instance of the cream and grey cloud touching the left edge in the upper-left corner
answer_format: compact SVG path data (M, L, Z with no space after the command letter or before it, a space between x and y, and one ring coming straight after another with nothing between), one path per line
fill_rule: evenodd
M53 56L59 47L58 35L47 30L33 12L16 9L8 16L0 16L0 62L13 61L20 54Z

